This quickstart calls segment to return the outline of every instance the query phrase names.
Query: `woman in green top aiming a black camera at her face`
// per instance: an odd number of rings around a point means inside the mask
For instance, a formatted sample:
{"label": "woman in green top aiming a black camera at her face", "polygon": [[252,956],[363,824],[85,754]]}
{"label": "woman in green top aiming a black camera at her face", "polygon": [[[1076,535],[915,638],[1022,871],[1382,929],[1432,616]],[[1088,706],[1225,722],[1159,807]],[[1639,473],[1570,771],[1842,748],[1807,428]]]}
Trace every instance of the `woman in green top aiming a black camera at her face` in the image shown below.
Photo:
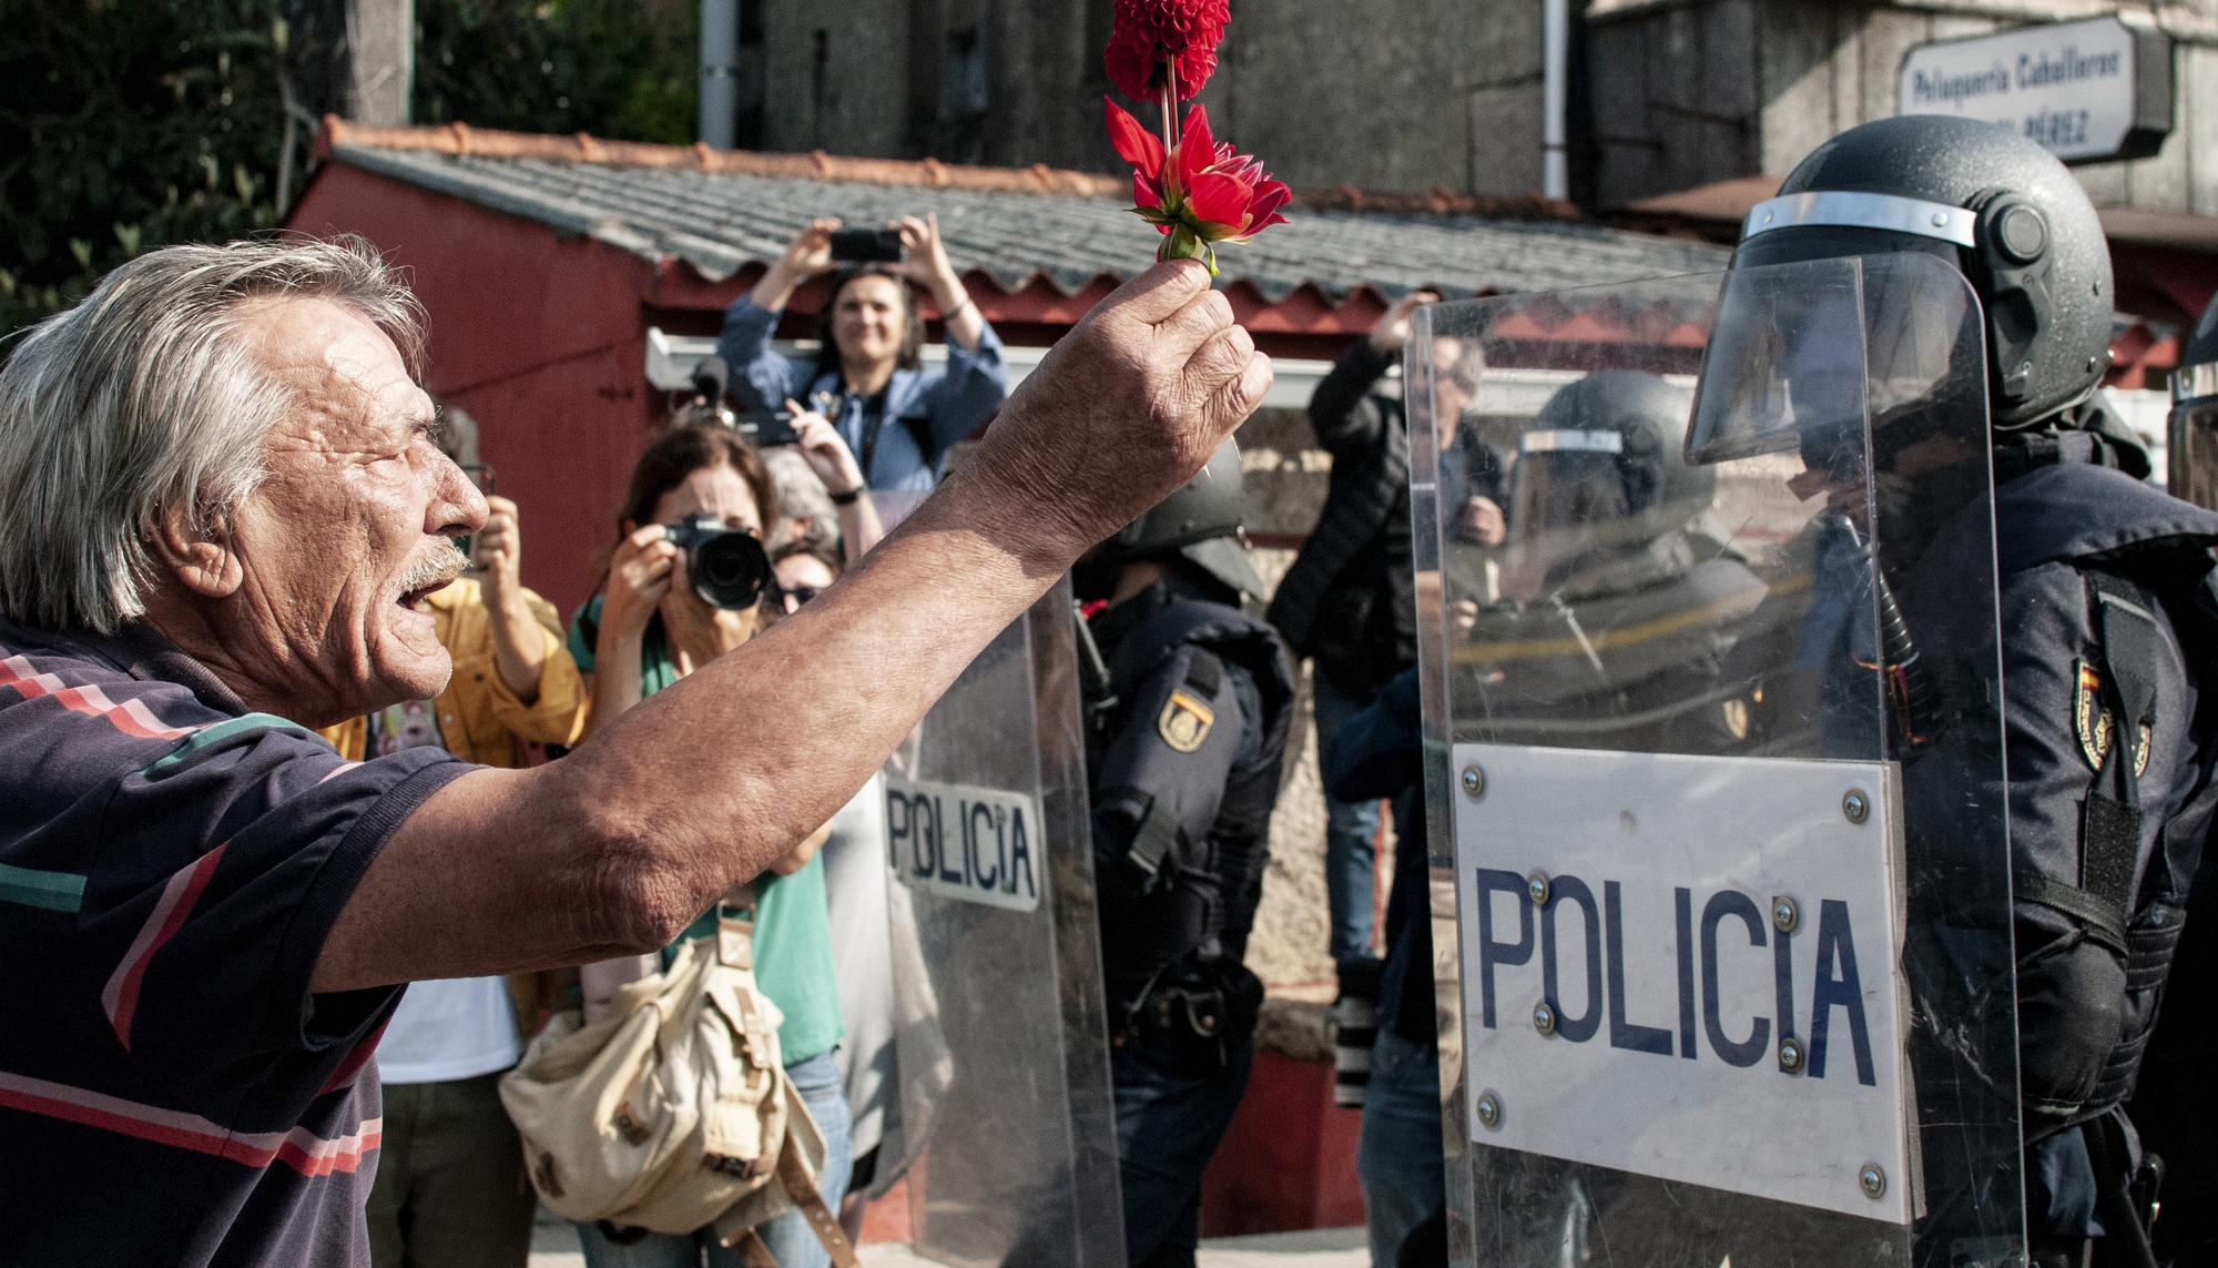
{"label": "woman in green top aiming a black camera at her face", "polygon": [[[763,599],[779,594],[763,552],[763,532],[776,519],[779,497],[763,457],[732,428],[679,426],[639,457],[608,585],[570,625],[570,652],[592,681],[588,736],[761,630]],[[785,1018],[776,1029],[779,1055],[823,1133],[818,1190],[836,1210],[847,1188],[849,1115],[832,1057],[841,1004],[825,869],[816,856],[823,840],[823,831],[812,834],[752,882],[752,955],[763,995]],[[586,964],[586,1020],[621,982],[659,971],[676,944],[714,933],[716,911],[710,909],[661,958]],[[798,1210],[763,1224],[756,1235],[783,1268],[830,1264]],[[592,1268],[692,1268],[712,1252],[714,1235],[581,1224],[579,1241]]]}

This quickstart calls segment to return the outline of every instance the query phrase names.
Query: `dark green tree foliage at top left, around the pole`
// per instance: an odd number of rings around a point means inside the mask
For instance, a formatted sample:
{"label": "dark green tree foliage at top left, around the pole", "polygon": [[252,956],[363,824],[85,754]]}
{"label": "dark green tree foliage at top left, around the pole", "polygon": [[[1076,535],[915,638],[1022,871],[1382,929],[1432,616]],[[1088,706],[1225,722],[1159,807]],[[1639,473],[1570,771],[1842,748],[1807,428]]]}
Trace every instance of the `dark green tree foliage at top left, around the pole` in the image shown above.
{"label": "dark green tree foliage at top left, around the pole", "polygon": [[[413,117],[690,142],[690,0],[415,0]],[[0,0],[0,333],[268,231],[346,100],[346,0]],[[4,348],[0,348],[4,355]]]}

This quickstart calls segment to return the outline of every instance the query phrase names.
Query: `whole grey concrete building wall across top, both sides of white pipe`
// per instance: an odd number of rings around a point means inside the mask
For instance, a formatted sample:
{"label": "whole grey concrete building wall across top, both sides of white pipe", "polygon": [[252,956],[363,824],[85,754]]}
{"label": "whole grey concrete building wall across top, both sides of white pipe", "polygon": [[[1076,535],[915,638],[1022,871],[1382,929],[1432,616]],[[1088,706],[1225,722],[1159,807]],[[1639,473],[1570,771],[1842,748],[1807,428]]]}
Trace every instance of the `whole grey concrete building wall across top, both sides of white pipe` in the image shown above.
{"label": "whole grey concrete building wall across top, both sides of white pipe", "polygon": [[[1783,175],[1894,111],[1923,40],[2083,18],[2098,0],[1588,0],[1573,193],[1610,208]],[[2180,35],[2163,153],[2080,168],[2098,202],[2218,213],[2218,0],[2127,7]],[[763,149],[1116,171],[1100,129],[1111,0],[765,0]],[[1202,104],[1298,188],[1522,195],[1542,182],[1542,0],[1242,2]],[[2196,124],[2202,124],[2200,129]]]}

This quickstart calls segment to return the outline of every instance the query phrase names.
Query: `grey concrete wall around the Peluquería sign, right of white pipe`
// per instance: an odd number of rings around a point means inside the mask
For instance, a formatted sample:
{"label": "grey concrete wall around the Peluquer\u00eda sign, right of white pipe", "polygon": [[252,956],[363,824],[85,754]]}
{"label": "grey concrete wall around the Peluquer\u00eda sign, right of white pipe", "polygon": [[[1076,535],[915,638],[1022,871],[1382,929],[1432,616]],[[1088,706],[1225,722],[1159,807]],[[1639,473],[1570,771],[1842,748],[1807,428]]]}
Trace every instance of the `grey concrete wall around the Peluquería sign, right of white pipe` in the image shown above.
{"label": "grey concrete wall around the Peluquer\u00eda sign, right of white pipe", "polygon": [[[1641,0],[1588,16],[1593,202],[1621,206],[1737,175],[1785,175],[1825,137],[1894,113],[1903,53],[2029,20],[2116,11],[2076,0],[1779,4]],[[2134,13],[2131,9],[2127,13]],[[2149,16],[2140,9],[2140,16]],[[2163,4],[2178,38],[2174,133],[2156,157],[2083,164],[2100,206],[2218,213],[2218,0]]]}

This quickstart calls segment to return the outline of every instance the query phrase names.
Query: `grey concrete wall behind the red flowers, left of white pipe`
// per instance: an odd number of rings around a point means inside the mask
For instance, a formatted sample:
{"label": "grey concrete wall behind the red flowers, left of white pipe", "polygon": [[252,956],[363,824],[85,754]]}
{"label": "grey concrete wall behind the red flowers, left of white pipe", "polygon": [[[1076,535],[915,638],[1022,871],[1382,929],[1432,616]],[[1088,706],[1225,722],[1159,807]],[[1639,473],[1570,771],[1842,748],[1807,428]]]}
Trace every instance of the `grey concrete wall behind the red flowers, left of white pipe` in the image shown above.
{"label": "grey concrete wall behind the red flowers, left of white pipe", "polygon": [[[1113,171],[1111,0],[765,0],[763,149]],[[1131,106],[1133,102],[1125,102]],[[1295,186],[1539,188],[1539,0],[1235,7],[1202,104]]]}

